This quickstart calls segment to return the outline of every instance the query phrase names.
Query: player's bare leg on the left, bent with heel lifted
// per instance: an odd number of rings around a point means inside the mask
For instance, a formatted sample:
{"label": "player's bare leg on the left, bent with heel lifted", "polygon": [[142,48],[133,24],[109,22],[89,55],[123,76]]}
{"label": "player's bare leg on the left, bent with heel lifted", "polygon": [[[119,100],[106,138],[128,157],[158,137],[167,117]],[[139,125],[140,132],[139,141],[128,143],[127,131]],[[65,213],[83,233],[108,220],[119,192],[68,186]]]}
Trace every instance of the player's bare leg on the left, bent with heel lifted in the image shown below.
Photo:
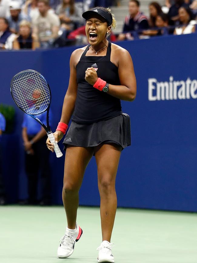
{"label": "player's bare leg on the left, bent with heel lifted", "polygon": [[69,145],[66,149],[64,166],[64,186],[62,200],[67,217],[68,228],[75,229],[77,208],[79,204],[78,192],[82,184],[83,175],[88,162],[92,158],[93,149]]}

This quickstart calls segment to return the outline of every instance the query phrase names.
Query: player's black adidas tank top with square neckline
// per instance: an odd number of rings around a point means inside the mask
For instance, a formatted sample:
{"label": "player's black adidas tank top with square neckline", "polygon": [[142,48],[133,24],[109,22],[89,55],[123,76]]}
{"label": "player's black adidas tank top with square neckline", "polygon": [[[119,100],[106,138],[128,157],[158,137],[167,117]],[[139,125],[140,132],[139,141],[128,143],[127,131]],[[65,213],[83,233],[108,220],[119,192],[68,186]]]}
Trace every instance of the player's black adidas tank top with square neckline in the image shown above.
{"label": "player's black adidas tank top with square neckline", "polygon": [[98,77],[112,85],[120,85],[118,67],[111,61],[111,43],[106,56],[85,56],[90,45],[83,52],[77,70],[77,98],[72,121],[79,124],[94,123],[116,117],[122,113],[121,102],[103,91],[94,88],[85,80],[85,70],[94,67]]}

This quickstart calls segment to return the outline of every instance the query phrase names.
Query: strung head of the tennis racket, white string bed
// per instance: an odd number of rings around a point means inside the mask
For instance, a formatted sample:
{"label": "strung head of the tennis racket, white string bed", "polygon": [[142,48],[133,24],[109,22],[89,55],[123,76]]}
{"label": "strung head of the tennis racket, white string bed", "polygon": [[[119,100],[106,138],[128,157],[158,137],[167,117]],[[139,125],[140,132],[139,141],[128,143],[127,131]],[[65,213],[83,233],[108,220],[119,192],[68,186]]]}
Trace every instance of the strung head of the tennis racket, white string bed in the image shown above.
{"label": "strung head of the tennis racket, white string bed", "polygon": [[29,114],[45,111],[50,102],[48,85],[38,73],[33,71],[15,77],[12,81],[12,94],[18,106]]}

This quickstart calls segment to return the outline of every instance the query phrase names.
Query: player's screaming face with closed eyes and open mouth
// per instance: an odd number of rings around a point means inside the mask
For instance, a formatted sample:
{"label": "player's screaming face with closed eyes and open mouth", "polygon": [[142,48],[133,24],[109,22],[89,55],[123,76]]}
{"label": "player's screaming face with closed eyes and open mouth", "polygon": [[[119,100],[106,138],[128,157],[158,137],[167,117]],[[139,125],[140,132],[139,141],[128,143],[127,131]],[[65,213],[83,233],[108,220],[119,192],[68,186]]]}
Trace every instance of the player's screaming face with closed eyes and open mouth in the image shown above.
{"label": "player's screaming face with closed eyes and open mouth", "polygon": [[108,26],[106,20],[100,15],[95,14],[94,17],[89,17],[85,25],[88,42],[93,46],[98,45],[105,39],[106,33],[110,29],[111,26]]}

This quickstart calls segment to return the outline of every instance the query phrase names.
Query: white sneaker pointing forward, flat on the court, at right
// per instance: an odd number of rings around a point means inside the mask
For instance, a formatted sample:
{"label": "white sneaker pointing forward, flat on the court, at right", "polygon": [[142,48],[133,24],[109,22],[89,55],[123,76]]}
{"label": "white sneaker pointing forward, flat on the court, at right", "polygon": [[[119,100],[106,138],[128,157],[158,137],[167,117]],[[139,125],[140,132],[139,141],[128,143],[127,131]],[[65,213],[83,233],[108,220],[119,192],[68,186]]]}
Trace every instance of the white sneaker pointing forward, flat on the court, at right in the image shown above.
{"label": "white sneaker pointing forward, flat on the court, at right", "polygon": [[114,263],[114,257],[112,255],[112,248],[114,243],[109,243],[108,241],[102,241],[100,247],[96,250],[99,250],[98,263],[101,262],[111,262]]}

